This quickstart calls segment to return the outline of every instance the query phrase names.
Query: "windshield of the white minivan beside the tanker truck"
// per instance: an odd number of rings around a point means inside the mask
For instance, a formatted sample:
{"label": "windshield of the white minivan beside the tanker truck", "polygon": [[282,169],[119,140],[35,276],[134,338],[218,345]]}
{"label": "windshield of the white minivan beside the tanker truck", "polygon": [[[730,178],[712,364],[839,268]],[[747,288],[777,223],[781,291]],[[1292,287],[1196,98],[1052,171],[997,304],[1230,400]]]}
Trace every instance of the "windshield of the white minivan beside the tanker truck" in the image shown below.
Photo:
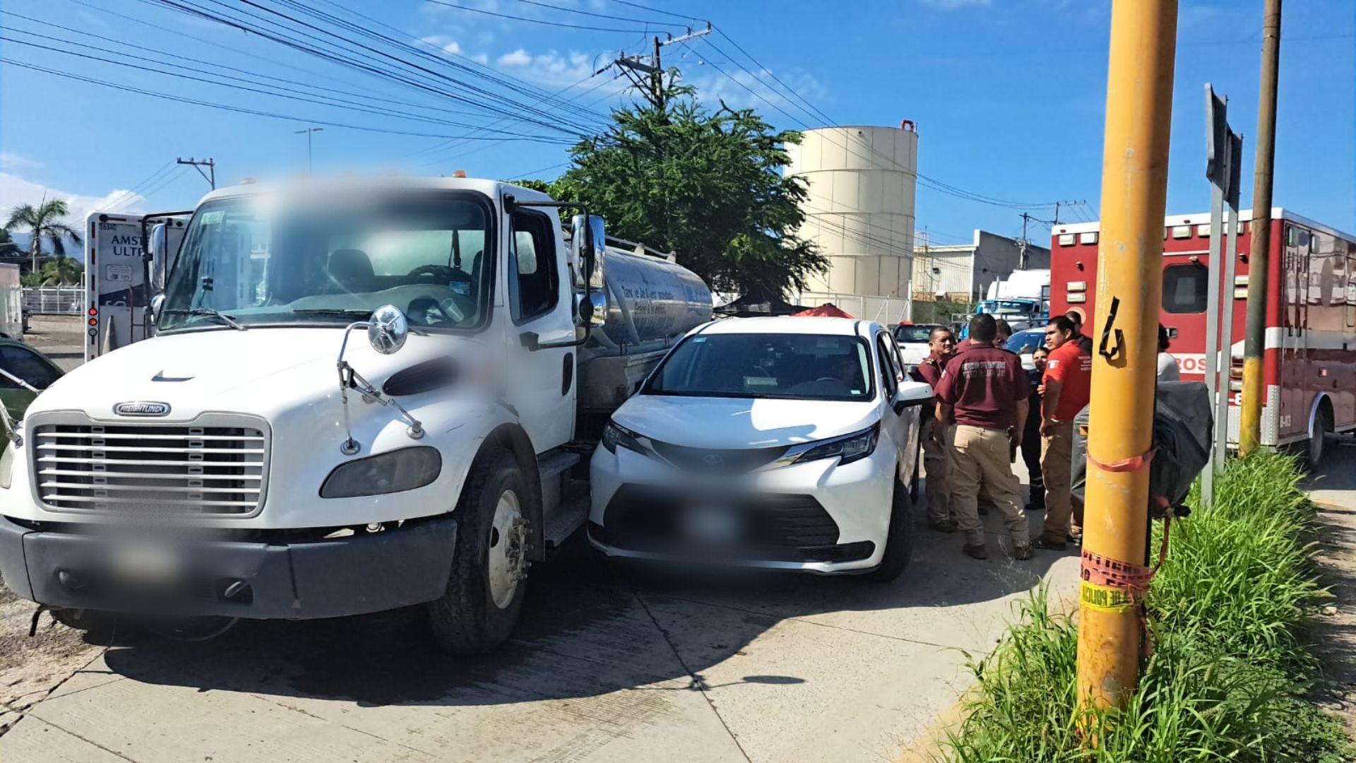
{"label": "windshield of the white minivan beside the tanker truck", "polygon": [[857,337],[697,334],[664,358],[643,395],[869,401],[871,353]]}

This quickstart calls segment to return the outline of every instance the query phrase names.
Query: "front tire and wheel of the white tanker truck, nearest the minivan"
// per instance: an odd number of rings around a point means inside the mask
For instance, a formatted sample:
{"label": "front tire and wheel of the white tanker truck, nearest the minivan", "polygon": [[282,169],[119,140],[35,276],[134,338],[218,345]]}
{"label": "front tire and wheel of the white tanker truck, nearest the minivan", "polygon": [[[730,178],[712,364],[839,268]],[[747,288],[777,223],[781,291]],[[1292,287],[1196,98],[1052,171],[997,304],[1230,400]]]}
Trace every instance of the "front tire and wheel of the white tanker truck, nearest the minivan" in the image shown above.
{"label": "front tire and wheel of the white tanker truck, nearest the minivan", "polygon": [[502,448],[476,462],[457,502],[452,578],[428,603],[434,638],[453,654],[484,654],[503,644],[527,588],[527,482]]}

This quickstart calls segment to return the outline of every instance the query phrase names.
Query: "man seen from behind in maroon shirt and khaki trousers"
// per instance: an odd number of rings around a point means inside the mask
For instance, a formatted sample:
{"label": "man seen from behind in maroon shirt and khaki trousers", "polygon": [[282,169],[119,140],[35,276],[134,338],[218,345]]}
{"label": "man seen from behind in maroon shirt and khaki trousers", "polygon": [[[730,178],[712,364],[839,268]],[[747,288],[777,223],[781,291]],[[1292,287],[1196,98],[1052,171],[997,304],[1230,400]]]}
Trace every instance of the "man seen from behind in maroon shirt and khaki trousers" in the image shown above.
{"label": "man seen from behind in maroon shirt and khaki trousers", "polygon": [[952,509],[965,534],[964,553],[989,558],[978,506],[983,486],[1012,535],[1013,557],[1029,559],[1031,536],[1017,498],[1020,485],[1012,470],[1010,448],[1021,443],[1026,426],[1031,384],[1021,360],[994,346],[997,338],[993,315],[970,319],[970,339],[946,361],[937,384],[937,418],[955,422]]}

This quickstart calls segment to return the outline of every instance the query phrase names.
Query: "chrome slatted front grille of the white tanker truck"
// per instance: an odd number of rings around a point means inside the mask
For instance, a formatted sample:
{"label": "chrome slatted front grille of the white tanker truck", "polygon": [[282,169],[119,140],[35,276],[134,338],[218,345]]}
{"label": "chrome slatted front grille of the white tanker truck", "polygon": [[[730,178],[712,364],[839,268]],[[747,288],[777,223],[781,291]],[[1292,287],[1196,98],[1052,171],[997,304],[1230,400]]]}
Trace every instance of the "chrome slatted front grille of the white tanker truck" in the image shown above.
{"label": "chrome slatted front grille of the white tanker truck", "polygon": [[57,510],[252,515],[263,500],[262,429],[39,424],[34,475]]}

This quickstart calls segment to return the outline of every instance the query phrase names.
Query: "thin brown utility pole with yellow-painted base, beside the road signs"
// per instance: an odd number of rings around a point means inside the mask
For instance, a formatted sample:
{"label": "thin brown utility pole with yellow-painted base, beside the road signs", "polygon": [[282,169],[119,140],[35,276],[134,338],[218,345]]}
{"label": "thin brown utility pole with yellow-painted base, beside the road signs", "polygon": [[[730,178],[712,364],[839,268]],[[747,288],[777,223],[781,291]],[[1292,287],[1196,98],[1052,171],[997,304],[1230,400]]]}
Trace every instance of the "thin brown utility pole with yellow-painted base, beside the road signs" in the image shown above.
{"label": "thin brown utility pole with yellow-painted base, beside the road signs", "polygon": [[[1253,248],[1248,255],[1248,323],[1238,453],[1261,444],[1262,356],[1267,352],[1267,276],[1271,267],[1271,191],[1276,162],[1276,75],[1280,69],[1280,0],[1267,0],[1262,22],[1262,81],[1257,98],[1257,168],[1253,175]],[[1319,434],[1321,436],[1321,434]]]}

